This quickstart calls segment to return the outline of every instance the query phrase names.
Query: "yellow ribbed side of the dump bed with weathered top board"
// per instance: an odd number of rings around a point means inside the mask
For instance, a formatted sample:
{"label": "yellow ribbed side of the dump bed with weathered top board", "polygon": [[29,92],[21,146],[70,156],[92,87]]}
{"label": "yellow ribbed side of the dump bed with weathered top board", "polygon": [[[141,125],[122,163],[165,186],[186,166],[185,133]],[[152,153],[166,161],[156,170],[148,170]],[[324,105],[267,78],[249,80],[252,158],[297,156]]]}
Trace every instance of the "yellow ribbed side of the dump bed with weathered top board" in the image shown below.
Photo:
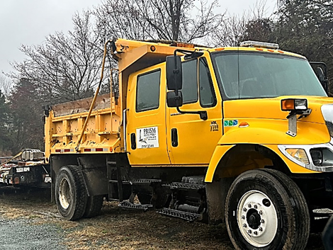
{"label": "yellow ribbed side of the dump bed with weathered top board", "polygon": [[[110,153],[120,151],[120,118],[115,114],[111,94],[98,96],[86,125],[79,152]],[[55,105],[45,123],[46,152],[77,153],[75,147],[88,115],[92,98]]]}

